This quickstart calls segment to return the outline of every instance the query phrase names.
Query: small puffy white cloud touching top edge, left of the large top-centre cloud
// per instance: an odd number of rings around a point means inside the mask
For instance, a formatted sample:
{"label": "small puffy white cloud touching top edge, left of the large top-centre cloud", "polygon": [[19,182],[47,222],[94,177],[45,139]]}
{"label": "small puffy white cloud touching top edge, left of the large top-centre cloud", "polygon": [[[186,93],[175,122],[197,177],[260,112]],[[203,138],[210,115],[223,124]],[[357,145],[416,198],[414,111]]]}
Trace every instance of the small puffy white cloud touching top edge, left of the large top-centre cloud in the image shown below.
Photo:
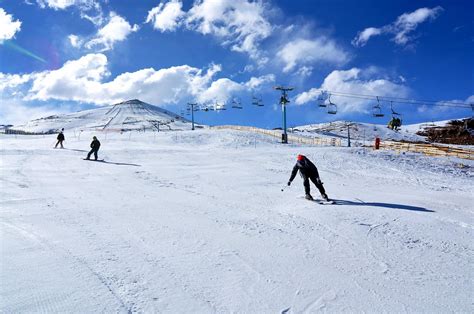
{"label": "small puffy white cloud touching top edge, left of the large top-centre cloud", "polygon": [[145,23],[153,23],[153,28],[161,32],[174,31],[185,15],[181,10],[182,7],[183,4],[179,0],[171,0],[166,4],[160,3],[148,12]]}

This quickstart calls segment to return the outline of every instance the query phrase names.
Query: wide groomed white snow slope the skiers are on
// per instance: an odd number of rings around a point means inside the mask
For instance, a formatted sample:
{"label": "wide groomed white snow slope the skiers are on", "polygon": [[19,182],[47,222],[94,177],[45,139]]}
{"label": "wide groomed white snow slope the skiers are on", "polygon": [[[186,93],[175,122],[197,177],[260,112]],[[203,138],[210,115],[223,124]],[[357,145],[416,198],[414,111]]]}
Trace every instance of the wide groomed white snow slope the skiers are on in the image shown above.
{"label": "wide groomed white snow slope the skiers are on", "polygon": [[[82,160],[92,135],[105,163]],[[1,312],[473,311],[472,161],[230,130],[65,136],[0,135]],[[298,153],[337,204],[286,187]]]}

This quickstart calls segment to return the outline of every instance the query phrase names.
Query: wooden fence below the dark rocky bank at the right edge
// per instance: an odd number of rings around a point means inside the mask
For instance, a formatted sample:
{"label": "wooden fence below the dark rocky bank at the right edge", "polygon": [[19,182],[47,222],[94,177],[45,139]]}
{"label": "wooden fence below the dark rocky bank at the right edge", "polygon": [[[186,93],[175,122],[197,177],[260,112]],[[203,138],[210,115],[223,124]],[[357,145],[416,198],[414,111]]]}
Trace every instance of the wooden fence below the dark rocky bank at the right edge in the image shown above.
{"label": "wooden fence below the dark rocky bank at the right edge", "polygon": [[395,150],[397,152],[422,153],[428,156],[452,156],[474,160],[474,150],[472,149],[456,148],[435,144],[383,141],[380,143],[380,148]]}

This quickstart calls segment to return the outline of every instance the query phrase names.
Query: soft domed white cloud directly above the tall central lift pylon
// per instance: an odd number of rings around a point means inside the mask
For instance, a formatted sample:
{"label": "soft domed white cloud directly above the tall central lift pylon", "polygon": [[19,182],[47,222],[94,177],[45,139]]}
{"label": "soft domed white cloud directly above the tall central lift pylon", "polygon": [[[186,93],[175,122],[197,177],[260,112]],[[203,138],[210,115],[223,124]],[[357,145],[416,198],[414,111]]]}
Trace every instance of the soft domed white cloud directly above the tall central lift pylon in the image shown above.
{"label": "soft domed white cloud directly above the tall central lift pylon", "polygon": [[[328,38],[295,39],[287,43],[277,53],[277,57],[285,63],[283,72],[292,71],[296,66],[314,63],[342,64],[349,57],[347,53],[339,48],[336,43]],[[310,68],[306,67],[308,73]]]}

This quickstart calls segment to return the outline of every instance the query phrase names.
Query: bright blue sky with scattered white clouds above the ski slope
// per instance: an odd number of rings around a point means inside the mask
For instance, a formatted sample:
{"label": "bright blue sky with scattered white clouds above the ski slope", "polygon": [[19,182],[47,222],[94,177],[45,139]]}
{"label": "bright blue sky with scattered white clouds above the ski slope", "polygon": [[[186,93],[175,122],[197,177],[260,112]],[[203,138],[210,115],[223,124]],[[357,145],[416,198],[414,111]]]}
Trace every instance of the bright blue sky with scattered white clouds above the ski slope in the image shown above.
{"label": "bright blue sky with scattered white clouds above the ski slope", "polygon": [[0,0],[0,124],[140,99],[275,128],[275,86],[294,88],[290,127],[457,119],[473,115],[473,56],[470,0]]}

